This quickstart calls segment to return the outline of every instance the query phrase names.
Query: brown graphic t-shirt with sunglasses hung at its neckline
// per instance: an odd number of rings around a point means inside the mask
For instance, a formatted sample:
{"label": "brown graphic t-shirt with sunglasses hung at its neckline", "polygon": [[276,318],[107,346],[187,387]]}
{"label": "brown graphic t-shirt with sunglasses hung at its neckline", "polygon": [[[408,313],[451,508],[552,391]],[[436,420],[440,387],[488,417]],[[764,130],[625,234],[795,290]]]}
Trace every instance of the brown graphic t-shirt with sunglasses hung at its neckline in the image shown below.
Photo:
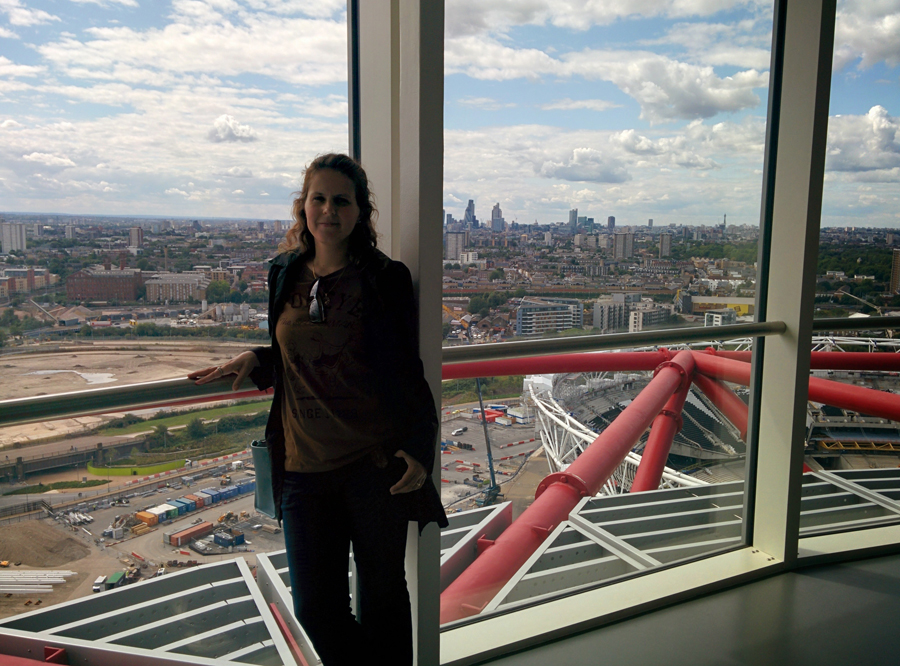
{"label": "brown graphic t-shirt with sunglasses hung at its neckline", "polygon": [[341,467],[392,436],[384,378],[364,339],[378,308],[363,303],[359,268],[350,264],[319,279],[323,322],[309,316],[314,281],[304,269],[275,329],[284,367],[285,468],[291,472]]}

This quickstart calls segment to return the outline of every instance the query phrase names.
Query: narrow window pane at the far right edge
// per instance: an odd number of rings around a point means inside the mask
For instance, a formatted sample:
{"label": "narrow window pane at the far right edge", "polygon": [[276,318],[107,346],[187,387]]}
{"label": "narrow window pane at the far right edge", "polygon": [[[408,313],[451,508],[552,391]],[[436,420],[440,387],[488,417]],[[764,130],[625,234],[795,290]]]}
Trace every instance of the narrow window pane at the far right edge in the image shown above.
{"label": "narrow window pane at the far right edge", "polygon": [[[895,331],[858,327],[900,311],[900,96],[887,27],[896,16],[886,5],[837,3],[814,306],[816,319],[835,321],[813,338],[801,538],[900,517],[891,471],[900,463]],[[863,355],[852,361],[847,352]]]}

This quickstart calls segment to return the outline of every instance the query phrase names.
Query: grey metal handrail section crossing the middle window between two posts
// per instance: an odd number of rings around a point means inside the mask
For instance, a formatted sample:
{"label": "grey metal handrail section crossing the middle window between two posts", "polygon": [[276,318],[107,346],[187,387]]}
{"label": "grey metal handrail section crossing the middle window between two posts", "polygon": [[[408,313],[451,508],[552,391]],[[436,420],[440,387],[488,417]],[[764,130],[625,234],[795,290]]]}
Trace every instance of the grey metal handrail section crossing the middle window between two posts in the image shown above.
{"label": "grey metal handrail section crossing the middle window between two posts", "polygon": [[679,344],[709,340],[733,340],[735,338],[781,335],[787,330],[783,321],[756,322],[753,324],[729,324],[715,327],[666,328],[637,333],[609,333],[606,335],[579,335],[571,338],[549,340],[517,340],[483,345],[444,347],[443,362],[465,363],[470,361],[496,361],[505,358],[527,356],[551,356],[575,352],[645,347],[660,344]]}

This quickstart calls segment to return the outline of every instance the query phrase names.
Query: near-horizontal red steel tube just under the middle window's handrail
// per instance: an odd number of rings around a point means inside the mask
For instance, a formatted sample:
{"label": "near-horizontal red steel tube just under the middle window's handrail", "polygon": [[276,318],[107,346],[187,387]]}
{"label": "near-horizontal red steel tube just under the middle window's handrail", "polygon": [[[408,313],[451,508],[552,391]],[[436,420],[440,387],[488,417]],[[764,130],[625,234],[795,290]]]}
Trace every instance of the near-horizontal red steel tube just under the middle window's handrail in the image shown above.
{"label": "near-horizontal red steel tube just under the middle window's handrail", "polygon": [[499,361],[450,363],[441,367],[442,379],[472,379],[505,375],[540,375],[557,372],[623,372],[653,370],[668,361],[671,353],[665,349],[655,352],[616,352],[561,354],[532,358],[509,358]]}

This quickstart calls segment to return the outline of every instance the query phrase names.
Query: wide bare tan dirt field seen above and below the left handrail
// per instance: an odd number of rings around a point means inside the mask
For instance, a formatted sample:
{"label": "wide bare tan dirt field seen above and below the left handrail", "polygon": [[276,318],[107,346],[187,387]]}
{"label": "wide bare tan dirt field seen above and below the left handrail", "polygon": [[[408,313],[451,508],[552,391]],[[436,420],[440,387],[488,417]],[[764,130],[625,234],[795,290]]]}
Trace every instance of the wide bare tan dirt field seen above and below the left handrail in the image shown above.
{"label": "wide bare tan dirt field seen above and below the left handrail", "polygon": [[[185,377],[252,346],[247,342],[135,340],[115,345],[51,345],[46,353],[5,354],[0,356],[0,400]],[[59,351],[49,351],[53,349]],[[89,416],[0,428],[0,450],[15,442],[82,432],[101,421],[103,417]]]}

